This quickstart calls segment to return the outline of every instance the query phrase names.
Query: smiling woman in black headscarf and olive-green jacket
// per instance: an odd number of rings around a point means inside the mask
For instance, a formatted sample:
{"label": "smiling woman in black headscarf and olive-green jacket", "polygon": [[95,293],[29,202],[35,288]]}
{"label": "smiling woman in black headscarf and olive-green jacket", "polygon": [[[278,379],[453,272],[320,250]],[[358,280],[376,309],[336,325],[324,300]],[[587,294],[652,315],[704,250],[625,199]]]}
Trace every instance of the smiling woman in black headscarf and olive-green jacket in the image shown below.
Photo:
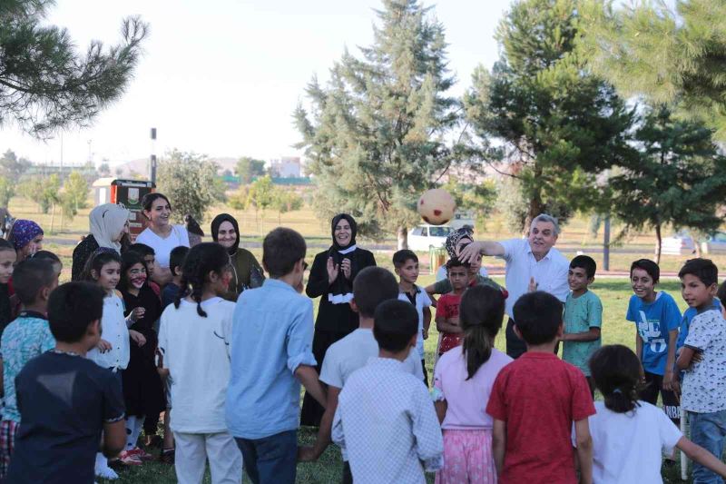
{"label": "smiling woman in black headscarf and olive-green jacket", "polygon": [[240,247],[240,226],[229,213],[220,213],[211,221],[211,238],[227,249],[232,265],[232,279],[229,291],[224,295],[228,301],[237,301],[245,289],[260,287],[265,280],[260,262],[252,252]]}

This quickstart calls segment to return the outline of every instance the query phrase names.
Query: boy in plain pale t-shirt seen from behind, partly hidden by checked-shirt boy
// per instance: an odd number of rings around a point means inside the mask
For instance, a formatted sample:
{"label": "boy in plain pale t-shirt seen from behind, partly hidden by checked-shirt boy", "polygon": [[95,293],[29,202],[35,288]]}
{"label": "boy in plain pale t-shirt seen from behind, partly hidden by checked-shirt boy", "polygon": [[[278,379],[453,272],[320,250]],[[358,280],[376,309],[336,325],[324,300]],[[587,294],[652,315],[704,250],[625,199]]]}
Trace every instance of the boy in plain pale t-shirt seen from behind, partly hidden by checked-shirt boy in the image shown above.
{"label": "boy in plain pale t-shirt seen from behind, partly hidden by checked-shirt boy", "polygon": [[[388,270],[382,267],[367,267],[356,276],[350,306],[353,311],[358,312],[359,327],[342,340],[333,343],[325,353],[320,381],[328,385],[328,405],[320,420],[318,439],[314,447],[299,449],[299,460],[318,459],[328,447],[340,390],[343,389],[351,373],[364,367],[370,358],[378,356],[378,342],[373,337],[373,313],[383,301],[395,300],[397,297],[398,283]],[[408,351],[402,368],[415,376],[423,386],[424,371],[417,351]],[[342,483],[349,484],[352,483],[352,478],[345,453],[343,459],[345,462]]]}

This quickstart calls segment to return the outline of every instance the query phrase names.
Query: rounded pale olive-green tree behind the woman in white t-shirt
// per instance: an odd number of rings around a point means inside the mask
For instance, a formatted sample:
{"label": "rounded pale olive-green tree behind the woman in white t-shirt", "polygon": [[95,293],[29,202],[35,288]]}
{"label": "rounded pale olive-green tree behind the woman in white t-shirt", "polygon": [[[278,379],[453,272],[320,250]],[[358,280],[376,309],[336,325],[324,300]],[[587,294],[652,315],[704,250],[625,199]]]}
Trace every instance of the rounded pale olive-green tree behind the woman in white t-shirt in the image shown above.
{"label": "rounded pale olive-green tree behind the woman in white t-shirt", "polygon": [[217,163],[205,155],[173,150],[157,167],[159,192],[172,202],[176,222],[190,213],[203,222],[215,202],[225,200],[223,183],[217,178]]}

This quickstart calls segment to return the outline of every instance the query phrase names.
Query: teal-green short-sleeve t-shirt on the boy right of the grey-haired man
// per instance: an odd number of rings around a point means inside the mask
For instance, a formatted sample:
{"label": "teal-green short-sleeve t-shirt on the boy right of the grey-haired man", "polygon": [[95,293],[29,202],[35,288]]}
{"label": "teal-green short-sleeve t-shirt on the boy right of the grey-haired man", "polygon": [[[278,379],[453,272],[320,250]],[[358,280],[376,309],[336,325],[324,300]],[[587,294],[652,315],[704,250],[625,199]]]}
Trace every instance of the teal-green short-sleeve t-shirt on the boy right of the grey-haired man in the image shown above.
{"label": "teal-green short-sleeve t-shirt on the boy right of the grey-haired man", "polygon": [[[564,332],[568,334],[587,332],[590,328],[603,326],[603,303],[593,291],[587,291],[578,298],[567,295],[564,301]],[[588,361],[602,345],[598,338],[594,341],[564,341],[562,359],[590,376]]]}

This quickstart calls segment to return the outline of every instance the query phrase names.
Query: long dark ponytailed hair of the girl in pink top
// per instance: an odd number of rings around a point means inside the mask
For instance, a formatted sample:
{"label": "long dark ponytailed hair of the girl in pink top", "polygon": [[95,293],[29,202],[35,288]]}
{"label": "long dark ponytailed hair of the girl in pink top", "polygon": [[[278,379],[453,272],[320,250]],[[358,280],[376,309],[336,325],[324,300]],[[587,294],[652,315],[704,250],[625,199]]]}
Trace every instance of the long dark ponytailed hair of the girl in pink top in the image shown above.
{"label": "long dark ponytailed hair of the girl in pink top", "polygon": [[474,286],[464,292],[459,306],[459,321],[464,330],[466,380],[489,361],[496,333],[502,329],[505,297],[490,286]]}

